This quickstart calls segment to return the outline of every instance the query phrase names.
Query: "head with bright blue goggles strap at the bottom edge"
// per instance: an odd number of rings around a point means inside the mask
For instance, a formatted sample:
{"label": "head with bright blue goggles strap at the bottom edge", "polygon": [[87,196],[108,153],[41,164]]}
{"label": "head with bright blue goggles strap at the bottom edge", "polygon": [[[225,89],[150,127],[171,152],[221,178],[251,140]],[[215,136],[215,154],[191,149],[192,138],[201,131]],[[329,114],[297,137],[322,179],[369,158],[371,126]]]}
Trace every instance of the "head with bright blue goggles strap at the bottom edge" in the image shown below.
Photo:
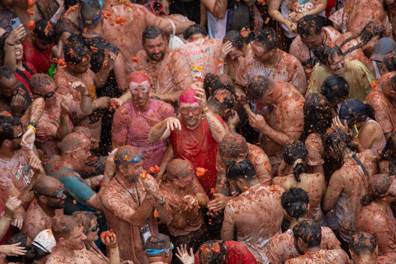
{"label": "head with bright blue goggles strap at the bottom edge", "polygon": [[168,264],[171,263],[174,248],[171,240],[167,235],[155,234],[146,242],[146,254],[150,264]]}

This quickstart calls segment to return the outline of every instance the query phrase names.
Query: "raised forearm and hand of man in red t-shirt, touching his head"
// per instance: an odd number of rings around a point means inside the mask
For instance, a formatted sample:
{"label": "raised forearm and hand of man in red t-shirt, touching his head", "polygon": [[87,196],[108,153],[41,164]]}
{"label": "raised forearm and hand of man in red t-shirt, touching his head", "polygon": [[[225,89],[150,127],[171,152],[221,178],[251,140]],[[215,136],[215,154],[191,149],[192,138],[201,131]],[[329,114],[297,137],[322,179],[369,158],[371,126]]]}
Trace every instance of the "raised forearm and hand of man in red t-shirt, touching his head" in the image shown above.
{"label": "raised forearm and hand of man in red t-shirt, touching his head", "polygon": [[196,102],[200,105],[204,112],[213,138],[216,140],[217,143],[220,143],[220,141],[225,136],[226,131],[223,124],[217,119],[212,111],[210,111],[208,102],[206,100],[205,90],[202,88],[196,88],[194,97],[196,99]]}

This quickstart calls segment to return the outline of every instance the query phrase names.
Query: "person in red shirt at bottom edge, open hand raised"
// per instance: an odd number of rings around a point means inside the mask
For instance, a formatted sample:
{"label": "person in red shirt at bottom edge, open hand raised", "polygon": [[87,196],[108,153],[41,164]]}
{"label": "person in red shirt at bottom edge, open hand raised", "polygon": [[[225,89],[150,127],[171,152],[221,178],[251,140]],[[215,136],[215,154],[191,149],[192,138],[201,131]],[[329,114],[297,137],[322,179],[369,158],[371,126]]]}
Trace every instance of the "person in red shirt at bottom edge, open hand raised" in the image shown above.
{"label": "person in red shirt at bottom edge, open hand raised", "polygon": [[190,255],[186,248],[177,248],[176,256],[183,264],[257,264],[249,249],[241,242],[211,240],[201,245],[200,249]]}

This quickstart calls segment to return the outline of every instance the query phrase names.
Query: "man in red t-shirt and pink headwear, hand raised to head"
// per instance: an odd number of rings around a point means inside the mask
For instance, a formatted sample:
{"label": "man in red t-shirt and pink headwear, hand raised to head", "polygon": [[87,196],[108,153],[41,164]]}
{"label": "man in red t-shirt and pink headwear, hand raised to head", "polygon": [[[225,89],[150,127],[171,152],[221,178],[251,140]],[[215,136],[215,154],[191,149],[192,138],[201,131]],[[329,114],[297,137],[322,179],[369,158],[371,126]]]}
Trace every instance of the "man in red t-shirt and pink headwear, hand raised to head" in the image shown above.
{"label": "man in red t-shirt and pink headwear, hand raised to head", "polygon": [[206,169],[198,181],[211,198],[217,179],[217,145],[225,135],[223,120],[210,111],[205,90],[201,88],[181,93],[179,112],[177,118],[168,117],[153,126],[148,141],[169,138],[175,158],[188,160],[195,172],[197,168]]}

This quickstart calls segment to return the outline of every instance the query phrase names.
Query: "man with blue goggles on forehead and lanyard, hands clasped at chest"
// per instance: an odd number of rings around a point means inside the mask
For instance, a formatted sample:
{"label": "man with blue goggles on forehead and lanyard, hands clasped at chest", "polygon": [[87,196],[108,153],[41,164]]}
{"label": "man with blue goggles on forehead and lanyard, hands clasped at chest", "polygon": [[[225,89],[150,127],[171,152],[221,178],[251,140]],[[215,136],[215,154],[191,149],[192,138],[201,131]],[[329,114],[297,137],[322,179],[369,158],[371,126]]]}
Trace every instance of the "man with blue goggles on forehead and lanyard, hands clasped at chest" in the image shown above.
{"label": "man with blue goggles on forehead and lanyard, hands clasped at chest", "polygon": [[155,217],[165,224],[172,221],[171,208],[157,182],[149,174],[141,177],[142,159],[143,153],[136,148],[120,147],[114,156],[116,176],[102,195],[107,224],[117,235],[120,259],[135,264],[148,263],[144,248],[147,239],[158,233]]}

